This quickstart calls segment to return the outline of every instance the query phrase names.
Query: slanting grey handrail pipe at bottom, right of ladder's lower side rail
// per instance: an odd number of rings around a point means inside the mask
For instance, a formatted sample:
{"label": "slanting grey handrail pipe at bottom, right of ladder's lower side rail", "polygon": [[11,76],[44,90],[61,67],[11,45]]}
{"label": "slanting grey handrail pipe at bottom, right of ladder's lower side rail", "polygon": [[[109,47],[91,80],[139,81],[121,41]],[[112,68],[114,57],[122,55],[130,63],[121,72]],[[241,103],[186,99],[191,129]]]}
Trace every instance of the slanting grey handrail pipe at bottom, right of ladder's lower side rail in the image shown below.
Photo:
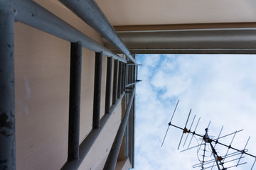
{"label": "slanting grey handrail pipe at bottom, right of ladder's lower side rail", "polygon": [[129,103],[124,112],[124,117],[122,118],[122,122],[118,128],[117,135],[114,138],[113,145],[110,149],[110,154],[107,157],[107,161],[105,162],[104,170],[114,170],[114,167],[117,164],[117,157],[118,157],[119,150],[120,150],[120,147],[122,144],[122,139],[124,137],[124,132],[125,132],[125,129],[127,126],[129,113],[131,111],[132,102],[134,100],[134,94],[135,94],[135,87],[134,87],[131,97],[129,98]]}

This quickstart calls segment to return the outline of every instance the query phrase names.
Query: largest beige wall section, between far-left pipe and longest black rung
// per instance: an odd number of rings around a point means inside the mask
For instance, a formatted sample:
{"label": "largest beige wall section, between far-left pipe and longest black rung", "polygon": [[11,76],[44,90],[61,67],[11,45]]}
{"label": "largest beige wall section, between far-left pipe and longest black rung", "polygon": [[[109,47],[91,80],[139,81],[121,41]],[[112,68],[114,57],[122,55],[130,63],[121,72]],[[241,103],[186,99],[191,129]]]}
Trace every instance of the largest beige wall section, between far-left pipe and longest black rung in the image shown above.
{"label": "largest beige wall section, between far-left pipe and longest black rung", "polygon": [[17,169],[59,169],[68,146],[69,42],[15,24]]}

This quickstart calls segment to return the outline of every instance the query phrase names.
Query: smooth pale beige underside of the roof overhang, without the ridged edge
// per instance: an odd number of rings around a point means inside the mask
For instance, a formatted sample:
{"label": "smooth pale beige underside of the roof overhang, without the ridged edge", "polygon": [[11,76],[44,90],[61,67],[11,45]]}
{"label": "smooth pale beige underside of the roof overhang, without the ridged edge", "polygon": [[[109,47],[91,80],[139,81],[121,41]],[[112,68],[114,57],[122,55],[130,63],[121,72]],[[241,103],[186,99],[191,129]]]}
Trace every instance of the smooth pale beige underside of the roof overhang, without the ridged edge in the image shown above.
{"label": "smooth pale beige underside of the roof overhang, without the ridged edge", "polygon": [[112,26],[256,22],[255,0],[96,0]]}

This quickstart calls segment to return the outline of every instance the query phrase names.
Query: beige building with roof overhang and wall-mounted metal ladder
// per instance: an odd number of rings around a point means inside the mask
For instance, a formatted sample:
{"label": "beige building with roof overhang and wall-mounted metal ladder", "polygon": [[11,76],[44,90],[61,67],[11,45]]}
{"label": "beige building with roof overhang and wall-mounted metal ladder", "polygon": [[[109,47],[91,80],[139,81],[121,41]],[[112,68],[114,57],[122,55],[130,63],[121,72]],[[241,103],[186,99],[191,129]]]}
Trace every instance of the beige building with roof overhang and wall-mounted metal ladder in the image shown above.
{"label": "beige building with roof overhang and wall-mounted metal ladder", "polygon": [[255,53],[255,1],[98,0],[124,44],[94,1],[60,1],[0,0],[0,169],[132,168],[131,54]]}

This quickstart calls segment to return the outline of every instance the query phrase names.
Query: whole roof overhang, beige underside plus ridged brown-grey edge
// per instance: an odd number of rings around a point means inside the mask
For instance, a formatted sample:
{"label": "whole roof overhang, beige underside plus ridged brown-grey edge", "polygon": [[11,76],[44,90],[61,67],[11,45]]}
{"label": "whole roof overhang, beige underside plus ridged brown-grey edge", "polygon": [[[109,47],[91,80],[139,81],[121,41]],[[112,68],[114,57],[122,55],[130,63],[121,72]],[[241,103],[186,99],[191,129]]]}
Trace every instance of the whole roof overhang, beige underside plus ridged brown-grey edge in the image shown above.
{"label": "whole roof overhang, beige underside plus ridged brown-grey edge", "polygon": [[255,0],[95,1],[134,54],[256,53]]}

